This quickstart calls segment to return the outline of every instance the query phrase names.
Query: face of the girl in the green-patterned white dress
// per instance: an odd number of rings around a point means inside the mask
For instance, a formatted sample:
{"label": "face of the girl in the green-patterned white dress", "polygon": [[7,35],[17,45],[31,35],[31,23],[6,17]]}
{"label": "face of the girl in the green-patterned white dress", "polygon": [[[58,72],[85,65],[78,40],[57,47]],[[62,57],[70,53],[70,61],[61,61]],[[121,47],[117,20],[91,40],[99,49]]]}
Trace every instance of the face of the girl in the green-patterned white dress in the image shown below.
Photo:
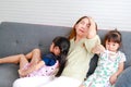
{"label": "face of the girl in the green-patterned white dress", "polygon": [[108,40],[106,40],[106,49],[107,50],[112,51],[112,52],[117,52],[119,47],[120,47],[119,44],[114,42],[114,41],[109,42]]}

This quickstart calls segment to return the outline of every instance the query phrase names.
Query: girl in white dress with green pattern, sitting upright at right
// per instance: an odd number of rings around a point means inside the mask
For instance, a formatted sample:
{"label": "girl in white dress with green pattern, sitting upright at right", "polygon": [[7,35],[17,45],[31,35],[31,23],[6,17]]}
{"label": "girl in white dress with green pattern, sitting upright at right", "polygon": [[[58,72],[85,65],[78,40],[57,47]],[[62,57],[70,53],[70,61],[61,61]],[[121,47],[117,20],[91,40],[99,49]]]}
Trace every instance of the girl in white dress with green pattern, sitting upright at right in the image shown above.
{"label": "girl in white dress with green pattern, sitting upright at right", "polygon": [[[106,49],[102,46],[97,47],[100,48],[100,55],[94,74],[80,87],[111,87],[123,71],[126,55],[118,51],[121,46],[121,34],[118,30],[110,30],[105,36],[104,42]],[[94,52],[98,53],[98,49],[94,50]]]}

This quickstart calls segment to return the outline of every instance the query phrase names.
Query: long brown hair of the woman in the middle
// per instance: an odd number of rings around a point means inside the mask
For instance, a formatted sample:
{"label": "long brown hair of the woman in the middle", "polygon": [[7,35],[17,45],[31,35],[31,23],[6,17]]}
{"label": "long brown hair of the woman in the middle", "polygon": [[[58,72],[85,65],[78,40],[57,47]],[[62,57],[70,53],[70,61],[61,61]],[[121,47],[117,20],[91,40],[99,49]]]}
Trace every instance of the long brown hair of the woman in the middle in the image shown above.
{"label": "long brown hair of the woman in the middle", "polygon": [[[74,26],[72,27],[72,30],[71,30],[70,36],[69,36],[69,39],[72,39],[72,38],[74,38],[74,37],[76,36],[75,25],[79,24],[83,18],[88,18],[88,16],[82,16],[82,17],[80,17],[80,18],[76,21],[76,23],[75,23]],[[90,18],[88,18],[88,21],[90,21]],[[90,24],[91,24],[91,23],[90,23]],[[97,24],[95,23],[95,25],[96,25],[96,30],[97,30]]]}

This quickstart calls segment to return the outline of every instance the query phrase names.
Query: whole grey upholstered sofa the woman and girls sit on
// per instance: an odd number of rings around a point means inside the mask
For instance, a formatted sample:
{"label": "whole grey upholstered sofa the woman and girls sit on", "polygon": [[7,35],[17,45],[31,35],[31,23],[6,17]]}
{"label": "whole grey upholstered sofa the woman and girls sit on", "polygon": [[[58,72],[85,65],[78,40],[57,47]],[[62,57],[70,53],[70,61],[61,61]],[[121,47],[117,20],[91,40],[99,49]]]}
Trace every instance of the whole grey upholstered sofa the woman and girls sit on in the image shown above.
{"label": "whole grey upholstered sofa the woman and girls sit on", "polygon": [[[0,58],[27,53],[34,48],[41,49],[43,53],[48,52],[49,45],[56,36],[68,36],[71,27],[51,26],[15,22],[2,22],[0,24]],[[107,30],[99,29],[102,40]],[[131,87],[131,32],[121,32],[123,46],[121,50],[127,55],[123,73],[119,76],[116,87]],[[97,59],[92,60],[90,73],[93,73]],[[12,87],[12,83],[19,78],[19,65],[0,64],[0,87]]]}

